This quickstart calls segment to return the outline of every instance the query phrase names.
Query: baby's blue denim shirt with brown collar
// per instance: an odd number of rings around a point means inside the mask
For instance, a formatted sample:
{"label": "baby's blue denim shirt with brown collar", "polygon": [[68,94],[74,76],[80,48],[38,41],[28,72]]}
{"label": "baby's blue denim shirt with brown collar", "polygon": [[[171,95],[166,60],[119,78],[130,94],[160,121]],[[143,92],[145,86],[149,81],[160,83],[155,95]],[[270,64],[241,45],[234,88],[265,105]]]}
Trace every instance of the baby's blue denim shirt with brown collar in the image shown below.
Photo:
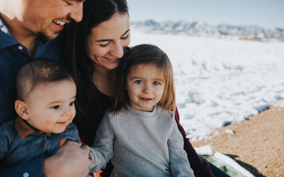
{"label": "baby's blue denim shirt with brown collar", "polygon": [[0,162],[4,168],[42,156],[50,157],[66,139],[80,141],[74,123],[70,123],[62,133],[44,133],[35,131],[18,117],[2,123],[0,132]]}

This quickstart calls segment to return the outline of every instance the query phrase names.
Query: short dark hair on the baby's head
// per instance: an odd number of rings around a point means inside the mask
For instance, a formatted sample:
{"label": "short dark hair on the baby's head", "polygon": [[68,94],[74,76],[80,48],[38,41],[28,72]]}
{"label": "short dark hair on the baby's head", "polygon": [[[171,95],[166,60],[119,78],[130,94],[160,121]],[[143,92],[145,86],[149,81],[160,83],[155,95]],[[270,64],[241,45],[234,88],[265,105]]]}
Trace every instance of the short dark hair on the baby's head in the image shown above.
{"label": "short dark hair on the baby's head", "polygon": [[48,59],[36,59],[23,65],[16,78],[17,99],[24,101],[38,85],[60,80],[74,80],[68,70]]}

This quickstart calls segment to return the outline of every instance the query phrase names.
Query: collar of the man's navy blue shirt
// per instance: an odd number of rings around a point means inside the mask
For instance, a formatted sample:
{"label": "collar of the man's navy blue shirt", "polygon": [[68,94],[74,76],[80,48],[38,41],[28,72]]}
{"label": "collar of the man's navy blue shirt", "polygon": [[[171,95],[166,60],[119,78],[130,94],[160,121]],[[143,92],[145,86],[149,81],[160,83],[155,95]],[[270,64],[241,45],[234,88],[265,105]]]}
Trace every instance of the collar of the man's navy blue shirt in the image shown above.
{"label": "collar of the man's navy blue shirt", "polygon": [[[14,36],[10,33],[7,25],[4,23],[4,21],[2,20],[2,18],[0,17],[0,49],[8,47],[8,46],[12,46],[14,44],[20,44],[20,42],[18,42]],[[41,40],[41,42],[43,43],[43,45],[46,45],[50,42],[50,40],[44,40],[44,39],[37,39],[37,40]]]}

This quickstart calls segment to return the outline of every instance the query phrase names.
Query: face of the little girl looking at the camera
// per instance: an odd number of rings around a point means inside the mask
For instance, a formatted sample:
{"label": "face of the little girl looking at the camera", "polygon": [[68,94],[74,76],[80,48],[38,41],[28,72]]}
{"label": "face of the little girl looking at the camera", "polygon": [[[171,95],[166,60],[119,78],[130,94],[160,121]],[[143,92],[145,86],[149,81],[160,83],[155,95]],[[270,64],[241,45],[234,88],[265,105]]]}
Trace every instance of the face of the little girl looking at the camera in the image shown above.
{"label": "face of the little girl looking at the camera", "polygon": [[151,112],[164,93],[164,78],[151,64],[137,65],[126,77],[126,89],[130,106]]}

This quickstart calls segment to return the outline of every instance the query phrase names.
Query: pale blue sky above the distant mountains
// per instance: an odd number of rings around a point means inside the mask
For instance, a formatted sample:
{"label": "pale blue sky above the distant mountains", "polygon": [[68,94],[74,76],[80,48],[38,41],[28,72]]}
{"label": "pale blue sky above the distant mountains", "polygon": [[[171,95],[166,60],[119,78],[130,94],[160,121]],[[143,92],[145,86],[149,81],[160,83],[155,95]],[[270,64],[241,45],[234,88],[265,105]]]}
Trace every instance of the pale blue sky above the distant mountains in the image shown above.
{"label": "pale blue sky above the distant mountains", "polygon": [[127,0],[130,21],[204,21],[284,28],[284,0]]}

